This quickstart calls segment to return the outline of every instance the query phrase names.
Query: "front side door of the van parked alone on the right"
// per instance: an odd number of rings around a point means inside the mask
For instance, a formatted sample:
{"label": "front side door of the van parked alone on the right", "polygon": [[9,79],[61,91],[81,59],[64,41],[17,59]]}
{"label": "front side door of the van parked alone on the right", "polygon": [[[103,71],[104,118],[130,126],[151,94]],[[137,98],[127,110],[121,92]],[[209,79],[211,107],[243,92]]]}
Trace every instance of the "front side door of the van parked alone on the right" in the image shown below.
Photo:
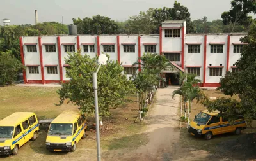
{"label": "front side door of the van parked alone on the right", "polygon": [[213,135],[221,134],[220,116],[212,116],[211,120],[205,125],[204,130],[211,131]]}

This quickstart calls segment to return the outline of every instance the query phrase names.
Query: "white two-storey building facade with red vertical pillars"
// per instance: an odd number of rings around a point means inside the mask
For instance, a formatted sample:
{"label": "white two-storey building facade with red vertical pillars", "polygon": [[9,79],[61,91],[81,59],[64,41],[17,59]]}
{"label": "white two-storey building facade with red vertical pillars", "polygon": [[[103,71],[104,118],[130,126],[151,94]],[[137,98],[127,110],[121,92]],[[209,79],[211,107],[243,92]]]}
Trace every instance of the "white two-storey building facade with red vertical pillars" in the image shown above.
{"label": "white two-storey building facade with red vertical pillars", "polygon": [[[185,21],[166,21],[160,34],[150,35],[77,35],[20,37],[24,83],[62,83],[68,81],[65,64],[67,52],[95,57],[108,53],[124,67],[129,78],[136,73],[132,64],[144,53],[159,53],[177,68],[163,71],[169,84],[177,85],[175,73],[197,74],[204,87],[218,87],[227,71],[236,72],[234,63],[243,52],[240,38],[245,34],[185,34]],[[140,69],[139,69],[140,71]]]}

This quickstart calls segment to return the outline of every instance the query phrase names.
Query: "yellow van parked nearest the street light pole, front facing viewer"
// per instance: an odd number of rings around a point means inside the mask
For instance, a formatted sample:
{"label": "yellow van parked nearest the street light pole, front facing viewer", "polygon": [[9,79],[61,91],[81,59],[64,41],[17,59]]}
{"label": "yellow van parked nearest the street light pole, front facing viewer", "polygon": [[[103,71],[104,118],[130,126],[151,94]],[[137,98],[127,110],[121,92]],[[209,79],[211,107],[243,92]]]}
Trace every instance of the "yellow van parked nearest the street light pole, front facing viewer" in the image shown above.
{"label": "yellow van parked nearest the street light pole, front facing viewer", "polygon": [[79,111],[63,111],[52,122],[46,137],[49,151],[75,151],[76,144],[86,137],[86,117]]}

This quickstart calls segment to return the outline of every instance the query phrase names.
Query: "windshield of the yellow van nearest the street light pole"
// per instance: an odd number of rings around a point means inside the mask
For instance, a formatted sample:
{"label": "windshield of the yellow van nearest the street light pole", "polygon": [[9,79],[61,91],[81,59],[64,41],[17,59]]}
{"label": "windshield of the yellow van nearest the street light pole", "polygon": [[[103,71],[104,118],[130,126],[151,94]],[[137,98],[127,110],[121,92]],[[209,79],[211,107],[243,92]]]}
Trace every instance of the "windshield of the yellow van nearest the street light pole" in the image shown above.
{"label": "windshield of the yellow van nearest the street light pole", "polygon": [[65,135],[71,136],[72,135],[72,123],[52,123],[49,129],[49,135]]}

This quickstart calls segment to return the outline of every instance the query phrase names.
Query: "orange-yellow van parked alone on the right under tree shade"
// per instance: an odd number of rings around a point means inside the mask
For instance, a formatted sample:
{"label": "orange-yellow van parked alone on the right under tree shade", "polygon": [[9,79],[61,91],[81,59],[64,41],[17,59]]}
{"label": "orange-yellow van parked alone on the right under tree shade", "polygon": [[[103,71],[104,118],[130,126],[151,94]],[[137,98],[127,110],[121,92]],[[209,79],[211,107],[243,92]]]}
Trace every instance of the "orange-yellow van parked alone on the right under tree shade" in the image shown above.
{"label": "orange-yellow van parked alone on the right under tree shade", "polygon": [[212,136],[227,132],[241,134],[241,130],[246,129],[246,122],[242,116],[235,117],[234,123],[229,123],[228,115],[225,113],[200,111],[195,119],[189,123],[188,132],[193,136],[204,135],[207,140],[211,139]]}

